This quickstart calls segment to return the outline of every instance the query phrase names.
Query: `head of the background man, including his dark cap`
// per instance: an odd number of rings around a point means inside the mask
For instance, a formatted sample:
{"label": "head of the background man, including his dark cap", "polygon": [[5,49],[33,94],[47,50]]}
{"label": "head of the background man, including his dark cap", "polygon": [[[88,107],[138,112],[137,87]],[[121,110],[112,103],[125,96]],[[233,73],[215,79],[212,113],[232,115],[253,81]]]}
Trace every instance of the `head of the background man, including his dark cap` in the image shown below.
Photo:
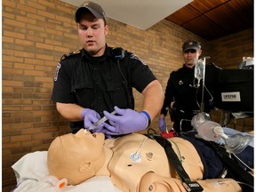
{"label": "head of the background man, including his dark cap", "polygon": [[185,66],[193,68],[202,53],[201,44],[196,40],[190,39],[182,45],[182,52]]}

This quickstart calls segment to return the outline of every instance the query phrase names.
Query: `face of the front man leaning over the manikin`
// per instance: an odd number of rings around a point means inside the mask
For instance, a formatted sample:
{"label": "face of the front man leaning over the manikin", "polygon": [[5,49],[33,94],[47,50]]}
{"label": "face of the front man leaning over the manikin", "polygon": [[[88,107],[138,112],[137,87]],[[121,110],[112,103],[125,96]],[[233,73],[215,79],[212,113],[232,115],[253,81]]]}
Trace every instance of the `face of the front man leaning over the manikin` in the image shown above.
{"label": "face of the front man leaning over the manikin", "polygon": [[84,50],[92,57],[104,54],[108,25],[104,24],[103,19],[97,19],[91,12],[85,12],[77,23],[77,32]]}

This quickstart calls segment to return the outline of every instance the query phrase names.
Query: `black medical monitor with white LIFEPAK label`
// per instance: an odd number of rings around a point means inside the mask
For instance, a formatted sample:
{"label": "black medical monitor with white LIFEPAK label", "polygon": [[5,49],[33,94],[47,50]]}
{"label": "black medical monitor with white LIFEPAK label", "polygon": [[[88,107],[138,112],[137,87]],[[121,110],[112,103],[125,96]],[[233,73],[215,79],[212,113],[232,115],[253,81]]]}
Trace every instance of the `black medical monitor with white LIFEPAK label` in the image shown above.
{"label": "black medical monitor with white LIFEPAK label", "polygon": [[253,113],[253,69],[221,69],[213,98],[215,108]]}

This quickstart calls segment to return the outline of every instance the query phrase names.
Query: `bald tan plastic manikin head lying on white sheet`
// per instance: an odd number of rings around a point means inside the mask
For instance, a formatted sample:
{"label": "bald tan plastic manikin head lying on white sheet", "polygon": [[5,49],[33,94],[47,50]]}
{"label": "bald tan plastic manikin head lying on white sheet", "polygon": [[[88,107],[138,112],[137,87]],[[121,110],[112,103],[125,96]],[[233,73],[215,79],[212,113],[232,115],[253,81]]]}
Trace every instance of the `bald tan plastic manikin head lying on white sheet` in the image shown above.
{"label": "bald tan plastic manikin head lying on white sheet", "polygon": [[77,185],[93,177],[105,162],[103,133],[66,134],[52,141],[48,149],[47,166],[51,175],[68,184]]}

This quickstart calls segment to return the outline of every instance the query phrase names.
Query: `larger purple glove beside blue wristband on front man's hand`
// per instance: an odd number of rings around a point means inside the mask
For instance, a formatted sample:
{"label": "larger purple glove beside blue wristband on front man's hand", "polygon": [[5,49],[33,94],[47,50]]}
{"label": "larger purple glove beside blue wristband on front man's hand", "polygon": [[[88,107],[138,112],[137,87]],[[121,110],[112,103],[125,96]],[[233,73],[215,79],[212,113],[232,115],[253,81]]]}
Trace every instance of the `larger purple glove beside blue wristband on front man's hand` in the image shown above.
{"label": "larger purple glove beside blue wristband on front man's hand", "polygon": [[109,122],[109,124],[104,125],[109,131],[106,132],[108,135],[137,132],[145,130],[148,127],[148,117],[150,118],[150,116],[147,116],[144,112],[139,113],[130,108],[122,109],[117,107],[115,107],[115,110],[117,116],[103,111]]}

